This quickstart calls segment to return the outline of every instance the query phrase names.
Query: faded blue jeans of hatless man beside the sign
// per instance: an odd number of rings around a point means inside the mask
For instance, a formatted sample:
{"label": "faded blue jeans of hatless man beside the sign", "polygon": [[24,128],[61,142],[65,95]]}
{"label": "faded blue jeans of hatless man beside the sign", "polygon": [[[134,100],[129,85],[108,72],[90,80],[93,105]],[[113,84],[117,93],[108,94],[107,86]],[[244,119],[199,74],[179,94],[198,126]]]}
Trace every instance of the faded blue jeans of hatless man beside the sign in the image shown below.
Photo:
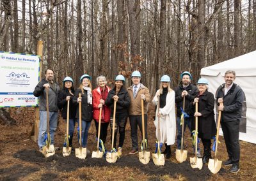
{"label": "faded blue jeans of hatless man beside the sign", "polygon": [[[51,145],[54,144],[54,134],[57,129],[58,112],[49,112],[49,132],[51,135]],[[47,134],[47,113],[46,111],[40,111],[40,123],[38,131],[38,146],[42,148],[45,146],[45,134]]]}

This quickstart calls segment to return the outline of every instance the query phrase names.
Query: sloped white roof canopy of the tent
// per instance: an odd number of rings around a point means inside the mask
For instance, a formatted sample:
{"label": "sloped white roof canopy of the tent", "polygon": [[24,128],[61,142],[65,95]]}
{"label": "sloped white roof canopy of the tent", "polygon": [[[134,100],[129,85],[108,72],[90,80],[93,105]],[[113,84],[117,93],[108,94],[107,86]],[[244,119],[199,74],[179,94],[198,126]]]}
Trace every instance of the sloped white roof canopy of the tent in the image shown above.
{"label": "sloped white roof canopy of the tent", "polygon": [[256,76],[256,51],[202,68],[201,75],[224,76],[228,69],[235,70],[236,76]]}

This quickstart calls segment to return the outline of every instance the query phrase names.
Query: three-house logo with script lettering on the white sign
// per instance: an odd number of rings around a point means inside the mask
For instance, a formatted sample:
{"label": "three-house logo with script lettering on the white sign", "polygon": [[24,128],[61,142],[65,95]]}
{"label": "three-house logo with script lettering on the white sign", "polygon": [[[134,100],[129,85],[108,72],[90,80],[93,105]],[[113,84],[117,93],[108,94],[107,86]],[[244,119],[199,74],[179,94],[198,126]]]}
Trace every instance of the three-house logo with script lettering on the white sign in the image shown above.
{"label": "three-house logo with script lettering on the white sign", "polygon": [[29,85],[29,76],[26,73],[9,73],[6,76],[8,78],[8,83],[6,84],[15,84],[15,85]]}

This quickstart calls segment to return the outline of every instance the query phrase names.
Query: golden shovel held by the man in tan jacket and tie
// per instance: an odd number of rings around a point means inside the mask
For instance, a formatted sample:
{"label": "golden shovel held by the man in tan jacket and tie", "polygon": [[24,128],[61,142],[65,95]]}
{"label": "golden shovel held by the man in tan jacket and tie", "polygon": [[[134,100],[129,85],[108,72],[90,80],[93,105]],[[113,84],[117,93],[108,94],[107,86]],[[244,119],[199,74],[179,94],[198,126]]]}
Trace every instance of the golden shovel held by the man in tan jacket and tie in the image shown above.
{"label": "golden shovel held by the man in tan jacket and tie", "polygon": [[143,147],[141,147],[141,152],[139,152],[139,159],[140,162],[143,164],[148,164],[148,162],[150,161],[150,152],[147,152],[147,144],[145,147],[145,141],[147,142],[147,140],[145,139],[145,126],[144,126],[144,102],[143,99],[141,99],[141,118],[142,118],[142,144]]}

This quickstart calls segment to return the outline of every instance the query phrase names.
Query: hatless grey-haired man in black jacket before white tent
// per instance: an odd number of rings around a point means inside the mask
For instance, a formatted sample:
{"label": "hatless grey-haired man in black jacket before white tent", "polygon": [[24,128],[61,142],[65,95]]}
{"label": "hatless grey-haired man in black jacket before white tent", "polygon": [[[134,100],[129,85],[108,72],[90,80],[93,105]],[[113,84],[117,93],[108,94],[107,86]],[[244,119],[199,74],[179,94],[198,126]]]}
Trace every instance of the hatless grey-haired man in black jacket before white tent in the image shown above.
{"label": "hatless grey-haired man in black jacket before white tent", "polygon": [[[240,147],[239,147],[239,122],[242,117],[244,93],[241,87],[234,83],[235,71],[228,70],[225,73],[225,83],[216,91],[218,110],[221,114],[221,129],[229,159],[223,164],[232,165],[230,172],[239,171]],[[223,104],[220,104],[223,103]]]}

